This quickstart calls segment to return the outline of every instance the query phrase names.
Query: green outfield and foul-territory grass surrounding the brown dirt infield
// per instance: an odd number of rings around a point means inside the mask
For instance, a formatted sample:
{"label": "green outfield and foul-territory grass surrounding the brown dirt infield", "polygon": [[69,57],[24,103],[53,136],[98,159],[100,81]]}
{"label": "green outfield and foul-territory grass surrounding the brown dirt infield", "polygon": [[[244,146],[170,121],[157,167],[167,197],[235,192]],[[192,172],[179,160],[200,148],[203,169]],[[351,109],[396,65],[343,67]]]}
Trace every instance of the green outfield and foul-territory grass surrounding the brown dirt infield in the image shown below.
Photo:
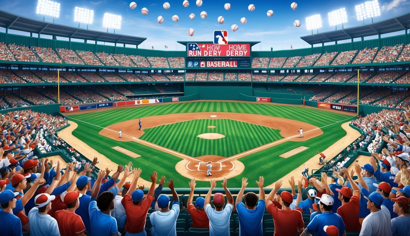
{"label": "green outfield and foul-territory grass surrounding the brown dirt infield", "polygon": [[[171,154],[161,152],[151,147],[130,142],[115,141],[111,138],[98,134],[101,127],[106,127],[114,123],[125,120],[136,119],[146,116],[164,115],[170,113],[189,113],[189,112],[237,112],[253,113],[266,116],[276,116],[293,120],[301,120],[322,128],[323,134],[304,142],[288,141],[270,147],[266,150],[248,155],[239,159],[245,165],[244,172],[229,180],[230,187],[240,187],[241,177],[248,179],[257,179],[264,175],[266,184],[270,184],[280,179],[295,167],[310,159],[316,154],[316,151],[324,150],[337,140],[346,135],[346,132],[340,126],[341,123],[333,124],[351,118],[351,116],[332,113],[326,110],[311,109],[308,107],[278,106],[273,104],[257,104],[243,102],[189,102],[189,103],[170,103],[163,105],[152,105],[146,107],[130,107],[124,109],[113,109],[109,111],[96,111],[79,115],[71,115],[68,118],[76,119],[78,128],[73,131],[73,135],[88,143],[88,145],[116,163],[128,163],[132,161],[135,167],[143,169],[141,177],[149,179],[150,172],[156,170],[158,175],[166,175],[175,180],[175,186],[188,187],[189,179],[183,177],[175,170],[175,165],[181,159]],[[80,122],[82,120],[93,125]],[[333,125],[330,125],[333,124]],[[97,126],[100,127],[97,127]],[[297,129],[299,127],[296,127]],[[104,145],[101,145],[104,143]],[[134,159],[111,147],[120,146],[135,152],[141,157]],[[296,154],[288,159],[279,157],[280,154],[292,150],[299,146],[309,147],[309,149]],[[91,157],[92,158],[92,157]],[[208,187],[207,182],[197,182],[197,187]],[[254,181],[250,181],[249,187],[256,187]]]}

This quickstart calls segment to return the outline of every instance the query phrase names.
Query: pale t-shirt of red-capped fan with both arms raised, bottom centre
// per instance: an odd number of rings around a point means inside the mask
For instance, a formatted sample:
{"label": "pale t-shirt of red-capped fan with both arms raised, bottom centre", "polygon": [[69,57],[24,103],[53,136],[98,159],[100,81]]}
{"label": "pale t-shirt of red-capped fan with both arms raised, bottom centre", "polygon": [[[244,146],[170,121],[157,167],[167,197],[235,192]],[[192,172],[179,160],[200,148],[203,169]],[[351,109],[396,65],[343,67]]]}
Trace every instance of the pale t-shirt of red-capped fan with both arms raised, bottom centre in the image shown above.
{"label": "pale t-shirt of red-capped fan with both arms raised, bottom centre", "polygon": [[211,204],[205,205],[205,212],[209,218],[210,236],[230,236],[229,218],[233,205],[228,203],[222,211],[215,211]]}

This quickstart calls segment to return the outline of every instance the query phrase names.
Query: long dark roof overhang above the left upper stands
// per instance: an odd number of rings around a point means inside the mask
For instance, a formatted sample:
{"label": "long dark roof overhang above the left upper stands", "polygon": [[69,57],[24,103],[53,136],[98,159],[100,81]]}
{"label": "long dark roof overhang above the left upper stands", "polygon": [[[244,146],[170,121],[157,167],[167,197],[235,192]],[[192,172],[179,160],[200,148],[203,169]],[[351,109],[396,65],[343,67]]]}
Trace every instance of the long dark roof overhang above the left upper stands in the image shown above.
{"label": "long dark roof overhang above the left upper stands", "polygon": [[112,34],[95,30],[86,30],[41,20],[34,20],[24,16],[11,14],[7,11],[2,10],[0,10],[0,27],[35,34],[48,34],[59,37],[93,40],[107,43],[125,43],[139,45],[146,40],[146,38],[142,37]]}

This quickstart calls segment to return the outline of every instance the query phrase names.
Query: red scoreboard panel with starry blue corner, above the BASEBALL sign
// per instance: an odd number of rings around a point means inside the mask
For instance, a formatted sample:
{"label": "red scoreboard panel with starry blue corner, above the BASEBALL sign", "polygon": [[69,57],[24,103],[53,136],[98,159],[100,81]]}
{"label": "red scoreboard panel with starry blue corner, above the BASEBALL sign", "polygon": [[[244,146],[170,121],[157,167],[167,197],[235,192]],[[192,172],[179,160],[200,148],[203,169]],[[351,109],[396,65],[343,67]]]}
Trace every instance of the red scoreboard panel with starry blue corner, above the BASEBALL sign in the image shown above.
{"label": "red scoreboard panel with starry blue corner, above the BASEBALL sign", "polygon": [[250,57],[249,43],[188,43],[188,57]]}

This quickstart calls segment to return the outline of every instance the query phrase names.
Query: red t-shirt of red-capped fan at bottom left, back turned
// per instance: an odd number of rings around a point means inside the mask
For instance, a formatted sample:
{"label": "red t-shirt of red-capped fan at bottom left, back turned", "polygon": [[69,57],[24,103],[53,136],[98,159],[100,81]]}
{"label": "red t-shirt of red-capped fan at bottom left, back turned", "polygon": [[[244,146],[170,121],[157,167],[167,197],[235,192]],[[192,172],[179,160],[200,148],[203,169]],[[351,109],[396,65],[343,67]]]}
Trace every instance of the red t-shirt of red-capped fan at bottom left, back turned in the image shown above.
{"label": "red t-shirt of red-capped fan at bottom left, back turned", "polygon": [[85,231],[84,223],[75,212],[60,210],[54,213],[61,236],[77,236]]}

